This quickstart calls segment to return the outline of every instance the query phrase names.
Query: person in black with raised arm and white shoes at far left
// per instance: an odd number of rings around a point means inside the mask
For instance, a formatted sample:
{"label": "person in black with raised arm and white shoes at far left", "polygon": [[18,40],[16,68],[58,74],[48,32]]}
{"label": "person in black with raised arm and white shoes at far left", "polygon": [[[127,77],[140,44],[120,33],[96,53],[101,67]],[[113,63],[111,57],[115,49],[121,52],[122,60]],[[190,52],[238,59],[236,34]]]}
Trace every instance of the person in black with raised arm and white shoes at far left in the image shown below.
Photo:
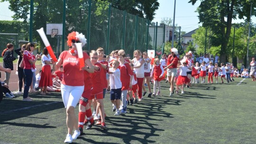
{"label": "person in black with raised arm and white shoes at far left", "polygon": [[21,48],[18,48],[14,50],[16,54],[18,54],[18,62],[17,62],[17,69],[16,72],[18,72],[18,91],[14,94],[16,95],[22,95],[22,87],[23,87],[23,81],[25,81],[25,74],[24,74],[24,67],[20,67],[20,63],[23,61],[23,52],[26,49],[26,45],[22,45]]}

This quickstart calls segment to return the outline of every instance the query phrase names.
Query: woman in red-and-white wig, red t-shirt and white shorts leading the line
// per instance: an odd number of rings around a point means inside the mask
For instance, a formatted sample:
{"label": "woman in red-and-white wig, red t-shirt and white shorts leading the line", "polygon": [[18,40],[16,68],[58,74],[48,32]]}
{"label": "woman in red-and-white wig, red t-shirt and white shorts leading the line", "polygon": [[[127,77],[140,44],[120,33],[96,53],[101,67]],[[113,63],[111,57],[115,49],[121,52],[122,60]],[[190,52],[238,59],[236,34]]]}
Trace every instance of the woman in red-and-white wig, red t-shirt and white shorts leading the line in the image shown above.
{"label": "woman in red-and-white wig, red t-shirt and white shorts leading the line", "polygon": [[[78,129],[78,120],[75,116],[74,108],[79,102],[82,92],[84,90],[84,77],[83,70],[88,72],[94,72],[92,68],[90,58],[88,54],[83,53],[84,63],[87,65],[80,70],[79,57],[75,43],[82,43],[82,46],[86,44],[84,35],[78,32],[72,32],[67,36],[67,45],[70,46],[68,51],[63,51],[58,59],[57,63],[53,63],[53,69],[57,70],[63,65],[64,76],[61,84],[61,95],[66,108],[66,125],[68,128],[68,134],[64,143],[72,143],[80,135]],[[75,129],[74,134],[71,133]]]}

